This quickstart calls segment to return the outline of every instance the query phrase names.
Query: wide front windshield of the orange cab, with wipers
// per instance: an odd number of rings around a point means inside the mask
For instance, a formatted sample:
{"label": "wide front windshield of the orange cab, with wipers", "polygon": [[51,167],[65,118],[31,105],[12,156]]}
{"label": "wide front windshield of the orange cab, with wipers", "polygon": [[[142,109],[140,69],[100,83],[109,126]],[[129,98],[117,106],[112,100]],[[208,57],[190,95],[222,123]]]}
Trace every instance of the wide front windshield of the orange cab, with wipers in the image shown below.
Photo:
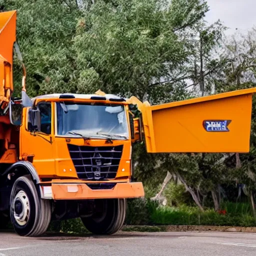
{"label": "wide front windshield of the orange cab, with wipers", "polygon": [[73,102],[57,102],[56,105],[58,135],[115,139],[128,137],[128,124],[123,105]]}

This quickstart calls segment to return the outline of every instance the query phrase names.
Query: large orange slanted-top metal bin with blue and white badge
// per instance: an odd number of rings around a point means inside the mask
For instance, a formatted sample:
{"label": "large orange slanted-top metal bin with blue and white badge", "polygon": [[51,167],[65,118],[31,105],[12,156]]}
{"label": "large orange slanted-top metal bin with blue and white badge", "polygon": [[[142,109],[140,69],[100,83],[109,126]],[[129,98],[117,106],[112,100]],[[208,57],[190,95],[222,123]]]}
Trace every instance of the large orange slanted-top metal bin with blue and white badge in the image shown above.
{"label": "large orange slanted-top metal bin with blue and white badge", "polygon": [[252,94],[236,90],[140,108],[148,152],[248,152]]}

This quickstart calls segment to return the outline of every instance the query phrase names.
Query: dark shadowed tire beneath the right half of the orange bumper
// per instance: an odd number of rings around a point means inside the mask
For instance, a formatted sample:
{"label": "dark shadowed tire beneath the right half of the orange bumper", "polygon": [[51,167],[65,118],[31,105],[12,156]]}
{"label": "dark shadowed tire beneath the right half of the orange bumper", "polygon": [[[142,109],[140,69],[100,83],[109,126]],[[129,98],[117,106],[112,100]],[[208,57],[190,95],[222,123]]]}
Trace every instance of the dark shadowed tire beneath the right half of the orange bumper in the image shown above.
{"label": "dark shadowed tire beneath the right half of the orange bumper", "polygon": [[126,199],[97,199],[96,212],[90,217],[81,217],[88,231],[94,234],[113,234],[125,219]]}

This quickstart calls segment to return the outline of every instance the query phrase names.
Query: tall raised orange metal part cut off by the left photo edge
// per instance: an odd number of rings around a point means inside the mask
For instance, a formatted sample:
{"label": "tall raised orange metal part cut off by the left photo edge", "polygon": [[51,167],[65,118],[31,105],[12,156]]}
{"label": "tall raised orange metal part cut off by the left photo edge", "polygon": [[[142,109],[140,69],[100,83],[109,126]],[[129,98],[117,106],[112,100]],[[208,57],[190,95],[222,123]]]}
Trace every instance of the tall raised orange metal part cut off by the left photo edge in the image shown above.
{"label": "tall raised orange metal part cut off by the left photo edge", "polygon": [[16,10],[0,12],[0,108],[4,109],[13,91],[13,44],[16,40]]}

